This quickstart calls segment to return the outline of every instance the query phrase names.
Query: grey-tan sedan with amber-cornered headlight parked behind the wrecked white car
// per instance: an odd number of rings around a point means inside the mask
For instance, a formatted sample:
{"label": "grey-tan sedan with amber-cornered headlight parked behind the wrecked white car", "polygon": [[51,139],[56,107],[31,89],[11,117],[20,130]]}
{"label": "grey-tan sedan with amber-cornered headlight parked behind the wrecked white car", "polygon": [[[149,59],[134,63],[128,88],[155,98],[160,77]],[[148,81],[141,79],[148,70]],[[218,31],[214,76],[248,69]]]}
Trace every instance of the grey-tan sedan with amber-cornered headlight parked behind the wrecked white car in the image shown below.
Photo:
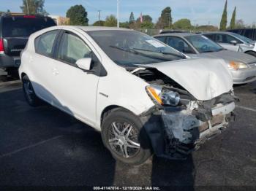
{"label": "grey-tan sedan with amber-cornered headlight parked behind the wrecked white car", "polygon": [[[256,79],[256,58],[242,52],[225,50],[200,34],[162,34],[154,36],[191,58],[222,58],[233,75],[234,84],[246,84]],[[208,63],[206,63],[208,64]]]}

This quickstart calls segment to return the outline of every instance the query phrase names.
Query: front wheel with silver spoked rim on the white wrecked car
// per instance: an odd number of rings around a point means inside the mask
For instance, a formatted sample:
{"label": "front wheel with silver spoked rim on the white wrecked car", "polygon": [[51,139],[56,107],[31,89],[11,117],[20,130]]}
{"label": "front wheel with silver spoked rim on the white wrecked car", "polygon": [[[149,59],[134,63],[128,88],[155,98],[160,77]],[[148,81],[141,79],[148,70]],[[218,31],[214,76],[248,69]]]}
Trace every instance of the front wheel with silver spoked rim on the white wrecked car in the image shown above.
{"label": "front wheel with silver spoked rim on the white wrecked car", "polygon": [[125,109],[113,109],[103,119],[102,141],[113,157],[123,163],[140,165],[152,155],[151,142],[140,118]]}

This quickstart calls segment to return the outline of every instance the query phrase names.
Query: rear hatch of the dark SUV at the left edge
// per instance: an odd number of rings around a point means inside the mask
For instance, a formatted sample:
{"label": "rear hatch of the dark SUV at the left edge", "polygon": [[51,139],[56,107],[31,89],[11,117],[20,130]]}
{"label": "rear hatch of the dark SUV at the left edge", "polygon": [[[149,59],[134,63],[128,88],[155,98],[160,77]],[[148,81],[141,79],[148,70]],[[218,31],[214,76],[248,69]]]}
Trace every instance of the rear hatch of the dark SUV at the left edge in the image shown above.
{"label": "rear hatch of the dark SUV at the left edge", "polygon": [[2,37],[4,39],[4,53],[9,56],[20,56],[26,47],[30,34],[55,26],[54,21],[48,17],[10,16],[2,18]]}

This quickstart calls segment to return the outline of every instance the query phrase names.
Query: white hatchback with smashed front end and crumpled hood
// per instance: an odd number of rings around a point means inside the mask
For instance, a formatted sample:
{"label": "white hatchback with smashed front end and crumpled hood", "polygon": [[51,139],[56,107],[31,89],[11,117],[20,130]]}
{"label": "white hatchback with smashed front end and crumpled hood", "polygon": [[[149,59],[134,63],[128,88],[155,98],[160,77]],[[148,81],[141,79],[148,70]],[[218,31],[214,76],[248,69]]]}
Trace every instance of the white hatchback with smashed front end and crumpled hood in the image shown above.
{"label": "white hatchback with smashed front end and crumpled hood", "polygon": [[31,106],[46,101],[101,131],[124,163],[143,163],[153,152],[184,159],[225,129],[235,109],[224,61],[186,59],[128,29],[38,31],[21,53],[19,74]]}

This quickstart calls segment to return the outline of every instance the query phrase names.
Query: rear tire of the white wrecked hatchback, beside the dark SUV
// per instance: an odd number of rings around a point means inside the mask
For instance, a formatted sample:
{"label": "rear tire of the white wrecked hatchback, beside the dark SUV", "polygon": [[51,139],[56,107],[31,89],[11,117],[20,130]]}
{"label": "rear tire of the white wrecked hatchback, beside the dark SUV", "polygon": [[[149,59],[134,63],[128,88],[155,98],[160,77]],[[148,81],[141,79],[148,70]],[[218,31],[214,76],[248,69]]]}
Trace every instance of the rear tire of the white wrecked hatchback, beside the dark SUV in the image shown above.
{"label": "rear tire of the white wrecked hatchback, beside the dark SUV", "polygon": [[25,95],[26,101],[30,106],[39,106],[41,104],[40,99],[34,93],[34,88],[29,80],[29,77],[24,76],[22,78],[22,86],[23,86],[23,93]]}

